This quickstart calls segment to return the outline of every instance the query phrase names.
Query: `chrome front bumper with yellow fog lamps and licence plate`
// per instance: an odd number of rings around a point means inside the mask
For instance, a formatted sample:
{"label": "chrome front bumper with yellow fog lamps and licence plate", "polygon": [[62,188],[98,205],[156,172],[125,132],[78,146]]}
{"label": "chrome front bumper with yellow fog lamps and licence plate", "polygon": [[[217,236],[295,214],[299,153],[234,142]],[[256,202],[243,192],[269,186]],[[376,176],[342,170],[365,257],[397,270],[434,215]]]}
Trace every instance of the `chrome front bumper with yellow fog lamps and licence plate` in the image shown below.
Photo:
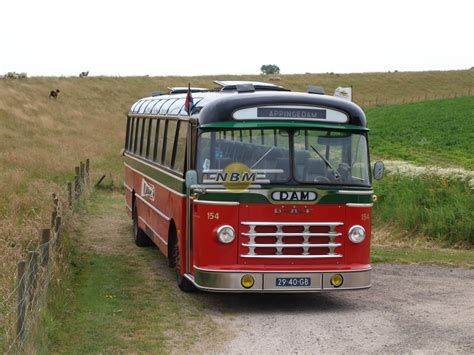
{"label": "chrome front bumper with yellow fog lamps and licence plate", "polygon": [[[369,288],[372,268],[345,271],[222,271],[194,267],[194,277],[185,275],[198,289],[212,292],[322,292],[339,290],[357,290]],[[344,282],[339,287],[331,285],[333,275],[340,274]],[[241,279],[251,275],[255,283],[251,288],[244,288]],[[277,278],[310,278],[310,286],[276,286]]]}

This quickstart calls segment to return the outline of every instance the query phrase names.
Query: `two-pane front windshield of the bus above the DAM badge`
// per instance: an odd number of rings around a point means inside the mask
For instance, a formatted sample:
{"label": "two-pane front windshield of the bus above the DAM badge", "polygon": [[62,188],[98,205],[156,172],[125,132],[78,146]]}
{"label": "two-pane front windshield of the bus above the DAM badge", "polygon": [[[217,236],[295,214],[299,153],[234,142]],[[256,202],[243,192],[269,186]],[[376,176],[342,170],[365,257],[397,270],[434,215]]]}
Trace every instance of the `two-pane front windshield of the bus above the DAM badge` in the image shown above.
{"label": "two-pane front windshield of the bus above the DAM badge", "polygon": [[347,131],[245,129],[200,134],[201,183],[216,183],[216,176],[233,163],[256,173],[258,184],[370,185],[367,140]]}

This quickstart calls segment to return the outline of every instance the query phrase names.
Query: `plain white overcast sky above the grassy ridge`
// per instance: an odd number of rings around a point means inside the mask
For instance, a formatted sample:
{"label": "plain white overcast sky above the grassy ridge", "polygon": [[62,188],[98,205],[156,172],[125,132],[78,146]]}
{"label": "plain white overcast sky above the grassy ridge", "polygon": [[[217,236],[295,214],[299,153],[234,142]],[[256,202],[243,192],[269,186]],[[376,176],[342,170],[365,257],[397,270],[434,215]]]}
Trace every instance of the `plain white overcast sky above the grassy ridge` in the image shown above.
{"label": "plain white overcast sky above the grassy ridge", "polygon": [[0,75],[474,66],[474,0],[1,0]]}

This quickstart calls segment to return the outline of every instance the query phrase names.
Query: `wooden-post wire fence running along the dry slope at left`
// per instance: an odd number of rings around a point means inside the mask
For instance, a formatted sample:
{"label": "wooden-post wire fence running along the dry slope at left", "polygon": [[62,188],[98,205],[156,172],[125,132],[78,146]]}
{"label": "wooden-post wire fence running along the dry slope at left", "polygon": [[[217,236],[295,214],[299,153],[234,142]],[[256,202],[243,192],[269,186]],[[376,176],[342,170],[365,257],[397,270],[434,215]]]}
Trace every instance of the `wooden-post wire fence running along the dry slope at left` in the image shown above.
{"label": "wooden-post wire fence running along the dry slope at left", "polygon": [[5,354],[25,351],[26,344],[34,336],[41,309],[46,304],[49,284],[61,269],[65,221],[90,191],[87,159],[75,168],[74,180],[67,183],[59,194],[53,194],[51,224],[39,231],[36,248],[28,251],[25,260],[18,262],[15,285],[0,301]]}

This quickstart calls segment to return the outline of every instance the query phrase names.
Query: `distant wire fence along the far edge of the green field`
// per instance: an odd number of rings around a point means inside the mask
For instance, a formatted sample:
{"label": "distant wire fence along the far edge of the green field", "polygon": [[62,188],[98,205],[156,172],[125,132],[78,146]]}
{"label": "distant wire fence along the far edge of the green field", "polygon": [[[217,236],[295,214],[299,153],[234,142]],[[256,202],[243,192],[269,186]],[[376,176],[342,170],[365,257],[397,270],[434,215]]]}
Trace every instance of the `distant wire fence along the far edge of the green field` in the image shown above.
{"label": "distant wire fence along the far edge of the green field", "polygon": [[458,97],[466,97],[474,95],[474,88],[469,88],[459,92],[450,92],[450,93],[429,93],[425,92],[417,96],[403,96],[396,95],[394,97],[386,96],[372,96],[370,99],[361,98],[360,100],[357,97],[354,98],[354,101],[362,107],[374,107],[374,106],[386,106],[386,105],[403,105],[410,104],[421,101],[433,101],[433,100],[444,100],[444,99],[454,99]]}

